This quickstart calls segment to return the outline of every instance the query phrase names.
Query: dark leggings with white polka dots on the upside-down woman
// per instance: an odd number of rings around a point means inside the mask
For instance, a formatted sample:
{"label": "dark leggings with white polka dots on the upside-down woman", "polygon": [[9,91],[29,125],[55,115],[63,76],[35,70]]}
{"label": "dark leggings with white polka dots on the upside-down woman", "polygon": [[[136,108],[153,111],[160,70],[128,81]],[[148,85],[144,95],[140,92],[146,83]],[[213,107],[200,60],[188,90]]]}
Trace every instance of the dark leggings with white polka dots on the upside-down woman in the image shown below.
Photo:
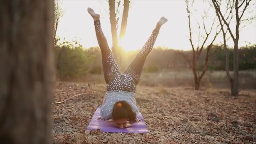
{"label": "dark leggings with white polka dots on the upside-down woman", "polygon": [[141,71],[147,55],[153,48],[159,29],[154,29],[151,36],[131,64],[121,73],[120,69],[109,49],[106,37],[104,36],[100,21],[94,21],[96,37],[101,48],[102,65],[104,78],[107,83],[107,91],[128,91],[135,92],[139,83]]}

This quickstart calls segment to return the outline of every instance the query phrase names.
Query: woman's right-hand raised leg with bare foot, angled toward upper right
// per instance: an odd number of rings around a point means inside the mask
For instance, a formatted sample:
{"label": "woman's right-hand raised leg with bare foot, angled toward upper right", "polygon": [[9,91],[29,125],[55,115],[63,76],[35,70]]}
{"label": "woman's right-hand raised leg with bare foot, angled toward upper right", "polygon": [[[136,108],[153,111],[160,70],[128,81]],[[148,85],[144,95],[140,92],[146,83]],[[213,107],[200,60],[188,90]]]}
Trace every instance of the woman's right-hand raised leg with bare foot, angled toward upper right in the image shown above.
{"label": "woman's right-hand raised leg with bare foot, angled toward upper right", "polygon": [[157,22],[155,29],[153,30],[153,32],[152,32],[151,36],[149,37],[149,39],[147,40],[147,42],[142,47],[141,51],[139,51],[139,53],[133,59],[131,64],[127,67],[127,69],[125,69],[124,73],[127,73],[133,77],[133,82],[135,83],[135,85],[137,85],[139,83],[139,79],[141,76],[142,68],[144,66],[144,62],[155,44],[155,40],[157,38],[157,35],[158,35],[158,32],[159,32],[161,26],[166,21],[167,21],[167,19],[162,17],[160,19],[160,21]]}

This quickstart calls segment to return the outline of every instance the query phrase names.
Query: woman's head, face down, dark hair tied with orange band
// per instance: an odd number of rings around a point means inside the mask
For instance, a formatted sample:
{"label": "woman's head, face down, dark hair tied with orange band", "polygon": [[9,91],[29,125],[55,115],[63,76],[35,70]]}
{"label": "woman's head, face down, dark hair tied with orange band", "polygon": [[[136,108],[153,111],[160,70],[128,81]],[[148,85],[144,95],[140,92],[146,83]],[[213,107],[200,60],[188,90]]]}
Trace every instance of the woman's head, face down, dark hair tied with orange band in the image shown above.
{"label": "woman's head, face down, dark hair tied with orange band", "polygon": [[136,114],[126,101],[118,101],[113,107],[112,118],[117,128],[125,128],[127,121],[134,122]]}

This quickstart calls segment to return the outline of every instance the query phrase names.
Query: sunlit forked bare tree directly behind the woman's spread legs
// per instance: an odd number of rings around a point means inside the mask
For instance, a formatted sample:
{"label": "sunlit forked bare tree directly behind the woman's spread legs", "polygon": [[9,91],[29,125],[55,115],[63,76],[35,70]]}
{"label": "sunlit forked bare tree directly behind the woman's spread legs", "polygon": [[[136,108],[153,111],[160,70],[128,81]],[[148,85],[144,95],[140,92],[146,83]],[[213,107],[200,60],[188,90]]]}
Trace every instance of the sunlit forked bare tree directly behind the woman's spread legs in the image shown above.
{"label": "sunlit forked bare tree directly behind the woman's spread legs", "polygon": [[123,49],[121,46],[121,40],[125,36],[125,29],[127,26],[128,11],[129,11],[129,3],[130,3],[129,0],[124,0],[123,17],[122,17],[121,30],[120,30],[119,40],[118,40],[117,22],[120,18],[117,16],[117,13],[119,12],[121,0],[117,1],[117,8],[115,6],[116,4],[115,0],[109,0],[109,19],[110,19],[111,33],[112,33],[112,52],[119,66],[122,61]]}

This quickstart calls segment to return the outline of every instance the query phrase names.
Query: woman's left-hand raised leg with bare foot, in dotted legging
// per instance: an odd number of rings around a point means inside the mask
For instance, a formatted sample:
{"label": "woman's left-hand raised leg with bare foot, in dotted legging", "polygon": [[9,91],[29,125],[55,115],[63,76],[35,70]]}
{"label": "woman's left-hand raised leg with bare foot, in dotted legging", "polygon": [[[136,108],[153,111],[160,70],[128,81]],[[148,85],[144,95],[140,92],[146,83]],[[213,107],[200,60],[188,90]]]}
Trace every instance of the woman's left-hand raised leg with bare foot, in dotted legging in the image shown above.
{"label": "woman's left-hand raised leg with bare foot, in dotted legging", "polygon": [[109,83],[110,79],[112,79],[115,74],[120,73],[120,69],[109,49],[106,37],[102,32],[101,23],[99,21],[99,14],[96,14],[91,8],[88,8],[88,13],[91,14],[94,20],[96,37],[99,43],[99,47],[101,48],[104,78],[106,83]]}

